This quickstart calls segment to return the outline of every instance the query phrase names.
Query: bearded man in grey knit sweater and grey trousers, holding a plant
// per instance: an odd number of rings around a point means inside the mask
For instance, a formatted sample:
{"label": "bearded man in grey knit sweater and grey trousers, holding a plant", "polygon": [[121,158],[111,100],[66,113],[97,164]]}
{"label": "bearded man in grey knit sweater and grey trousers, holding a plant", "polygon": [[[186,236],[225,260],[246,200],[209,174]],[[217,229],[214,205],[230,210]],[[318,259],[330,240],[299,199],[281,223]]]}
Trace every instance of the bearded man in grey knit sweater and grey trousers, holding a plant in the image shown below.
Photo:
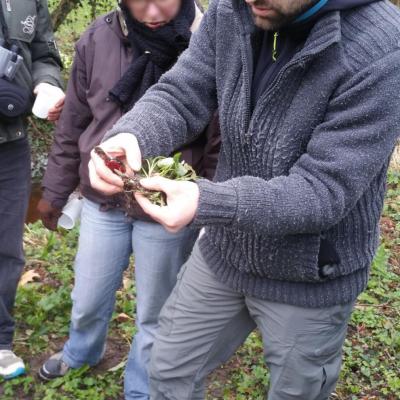
{"label": "bearded man in grey knit sweater and grey trousers, holding a plant", "polygon": [[[214,0],[189,49],[106,135],[103,148],[166,155],[218,107],[214,182],[143,180],[168,205],[137,201],[167,229],[204,227],[165,305],[152,399],[202,398],[221,332],[253,320],[269,400],[326,400],[347,321],[379,240],[400,131],[400,13],[388,1]],[[95,154],[92,185],[122,182]],[[251,318],[250,318],[251,317]]]}

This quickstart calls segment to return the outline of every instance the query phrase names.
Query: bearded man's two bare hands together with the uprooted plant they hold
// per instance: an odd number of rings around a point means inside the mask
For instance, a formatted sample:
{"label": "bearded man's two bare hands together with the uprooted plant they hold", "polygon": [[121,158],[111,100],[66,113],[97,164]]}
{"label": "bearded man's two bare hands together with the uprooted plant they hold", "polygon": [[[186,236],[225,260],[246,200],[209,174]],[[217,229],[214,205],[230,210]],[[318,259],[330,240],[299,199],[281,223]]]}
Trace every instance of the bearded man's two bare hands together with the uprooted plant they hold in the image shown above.
{"label": "bearded man's two bare hands together with the uprooted plant they hold", "polygon": [[[134,172],[135,171],[135,172]],[[123,191],[167,230],[177,232],[189,224],[199,199],[193,168],[174,157],[144,160],[134,135],[120,133],[92,151],[89,163],[92,186],[112,195]]]}

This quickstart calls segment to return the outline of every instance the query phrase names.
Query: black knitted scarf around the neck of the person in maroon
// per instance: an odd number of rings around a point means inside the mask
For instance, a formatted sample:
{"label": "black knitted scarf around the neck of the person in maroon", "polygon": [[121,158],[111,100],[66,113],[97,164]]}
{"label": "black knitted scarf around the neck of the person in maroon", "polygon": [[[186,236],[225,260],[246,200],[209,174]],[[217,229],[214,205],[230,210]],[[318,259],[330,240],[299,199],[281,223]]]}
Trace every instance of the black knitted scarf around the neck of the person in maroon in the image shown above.
{"label": "black knitted scarf around the neck of the person in maroon", "polygon": [[121,4],[121,9],[128,28],[128,40],[140,54],[110,91],[110,98],[126,112],[188,47],[196,8],[194,0],[182,0],[179,14],[154,30],[135,20],[126,6]]}

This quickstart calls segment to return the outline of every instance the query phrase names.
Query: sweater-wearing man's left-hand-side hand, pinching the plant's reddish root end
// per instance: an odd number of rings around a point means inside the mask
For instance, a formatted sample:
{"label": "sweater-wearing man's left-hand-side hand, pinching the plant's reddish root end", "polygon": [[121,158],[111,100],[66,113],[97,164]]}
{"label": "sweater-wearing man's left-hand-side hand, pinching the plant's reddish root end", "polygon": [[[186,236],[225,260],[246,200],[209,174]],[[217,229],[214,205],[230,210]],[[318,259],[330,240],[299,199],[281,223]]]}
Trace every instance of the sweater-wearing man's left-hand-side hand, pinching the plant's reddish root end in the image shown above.
{"label": "sweater-wearing man's left-hand-side hand, pinching the plant's reddish root end", "polygon": [[[118,157],[131,171],[139,171],[142,157],[139,144],[131,133],[119,133],[103,142],[100,147],[110,156]],[[92,150],[89,162],[89,178],[94,189],[106,195],[122,191],[122,179],[115,175],[104,161]]]}

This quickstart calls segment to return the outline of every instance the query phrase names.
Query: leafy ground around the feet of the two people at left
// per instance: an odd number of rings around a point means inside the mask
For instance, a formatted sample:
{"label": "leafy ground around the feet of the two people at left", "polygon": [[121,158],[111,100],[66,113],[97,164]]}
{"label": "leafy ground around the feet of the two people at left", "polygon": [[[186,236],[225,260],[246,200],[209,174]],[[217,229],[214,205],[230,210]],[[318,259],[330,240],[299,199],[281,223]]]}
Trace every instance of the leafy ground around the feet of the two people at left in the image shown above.
{"label": "leafy ground around the feet of the two people at left", "polygon": [[[20,287],[17,295],[16,352],[28,363],[28,375],[1,382],[1,399],[119,399],[121,374],[134,333],[134,294],[130,267],[124,289],[117,293],[117,306],[111,322],[109,351],[105,362],[87,372],[73,371],[65,379],[43,384],[36,373],[41,362],[64,343],[68,335],[73,284],[72,263],[77,231],[49,233],[40,223],[26,228],[25,273],[34,272],[34,281]],[[25,275],[27,276],[27,275]],[[129,317],[131,316],[131,317]]]}

